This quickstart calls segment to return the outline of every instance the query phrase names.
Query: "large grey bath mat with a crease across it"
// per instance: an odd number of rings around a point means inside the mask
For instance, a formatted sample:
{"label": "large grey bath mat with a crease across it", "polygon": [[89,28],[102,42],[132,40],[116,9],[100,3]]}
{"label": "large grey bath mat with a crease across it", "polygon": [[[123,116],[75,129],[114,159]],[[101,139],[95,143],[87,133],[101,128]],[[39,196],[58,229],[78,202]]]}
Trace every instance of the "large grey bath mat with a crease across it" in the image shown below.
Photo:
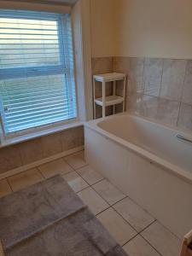
{"label": "large grey bath mat with a crease across it", "polygon": [[8,256],[126,255],[62,177],[0,199]]}

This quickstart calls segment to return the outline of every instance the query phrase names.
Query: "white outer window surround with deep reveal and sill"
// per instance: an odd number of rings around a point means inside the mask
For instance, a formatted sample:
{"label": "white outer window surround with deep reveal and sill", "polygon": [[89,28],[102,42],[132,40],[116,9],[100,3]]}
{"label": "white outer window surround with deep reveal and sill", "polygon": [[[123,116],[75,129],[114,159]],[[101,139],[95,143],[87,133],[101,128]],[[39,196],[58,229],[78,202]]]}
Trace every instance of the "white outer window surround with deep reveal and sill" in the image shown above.
{"label": "white outer window surround with deep reveal and sill", "polygon": [[[84,121],[93,119],[92,104],[92,75],[91,75],[91,37],[90,37],[90,0],[79,0],[73,7],[54,4],[36,4],[25,2],[0,1],[1,9],[28,9],[36,11],[49,11],[60,14],[72,15],[73,27],[73,57],[75,63],[76,79],[76,101],[78,118],[65,124],[51,125],[41,127],[36,131],[28,131],[26,135],[15,136],[14,138],[3,137],[3,131],[0,124],[0,148],[11,144],[27,141],[35,137],[41,137],[55,131],[69,129],[74,125],[83,125]],[[80,110],[80,111],[79,111]],[[1,119],[0,119],[1,122]]]}

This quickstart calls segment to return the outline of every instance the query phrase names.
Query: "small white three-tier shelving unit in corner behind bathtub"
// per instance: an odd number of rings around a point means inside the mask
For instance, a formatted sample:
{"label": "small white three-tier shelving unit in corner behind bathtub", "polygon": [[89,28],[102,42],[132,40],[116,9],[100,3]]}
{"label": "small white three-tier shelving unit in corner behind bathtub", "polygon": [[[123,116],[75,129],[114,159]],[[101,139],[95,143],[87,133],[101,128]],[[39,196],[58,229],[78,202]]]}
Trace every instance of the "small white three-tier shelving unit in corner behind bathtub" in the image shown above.
{"label": "small white three-tier shelving unit in corner behind bathtub", "polygon": [[[123,96],[116,95],[117,81],[123,80]],[[96,98],[96,82],[102,83],[102,97]],[[106,83],[113,82],[113,95],[106,96]],[[125,111],[125,84],[126,75],[124,73],[105,73],[93,76],[93,93],[94,93],[94,118],[96,119],[96,105],[102,107],[102,117],[106,116],[106,107],[113,106],[115,113],[115,105],[123,103],[123,112]]]}

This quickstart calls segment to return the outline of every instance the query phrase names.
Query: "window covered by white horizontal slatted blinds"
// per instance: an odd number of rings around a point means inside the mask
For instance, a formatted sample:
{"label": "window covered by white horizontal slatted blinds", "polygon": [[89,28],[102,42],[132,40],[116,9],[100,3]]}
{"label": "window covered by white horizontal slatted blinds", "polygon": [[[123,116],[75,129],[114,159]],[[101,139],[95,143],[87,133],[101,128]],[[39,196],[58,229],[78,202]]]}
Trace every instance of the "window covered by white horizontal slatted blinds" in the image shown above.
{"label": "window covered by white horizontal slatted blinds", "polygon": [[0,10],[5,135],[77,117],[70,15]]}

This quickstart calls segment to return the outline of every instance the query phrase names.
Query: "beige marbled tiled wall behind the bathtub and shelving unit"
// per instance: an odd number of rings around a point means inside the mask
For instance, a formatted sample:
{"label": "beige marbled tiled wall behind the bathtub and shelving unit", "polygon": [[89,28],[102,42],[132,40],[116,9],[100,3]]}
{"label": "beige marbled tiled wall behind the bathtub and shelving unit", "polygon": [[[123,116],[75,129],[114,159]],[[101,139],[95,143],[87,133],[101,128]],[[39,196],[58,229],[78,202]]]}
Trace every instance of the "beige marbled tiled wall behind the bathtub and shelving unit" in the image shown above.
{"label": "beige marbled tiled wall behind the bathtub and shelving unit", "polygon": [[114,72],[127,74],[126,110],[192,131],[192,61],[109,57],[92,63],[93,73],[111,72],[106,67],[113,63]]}

